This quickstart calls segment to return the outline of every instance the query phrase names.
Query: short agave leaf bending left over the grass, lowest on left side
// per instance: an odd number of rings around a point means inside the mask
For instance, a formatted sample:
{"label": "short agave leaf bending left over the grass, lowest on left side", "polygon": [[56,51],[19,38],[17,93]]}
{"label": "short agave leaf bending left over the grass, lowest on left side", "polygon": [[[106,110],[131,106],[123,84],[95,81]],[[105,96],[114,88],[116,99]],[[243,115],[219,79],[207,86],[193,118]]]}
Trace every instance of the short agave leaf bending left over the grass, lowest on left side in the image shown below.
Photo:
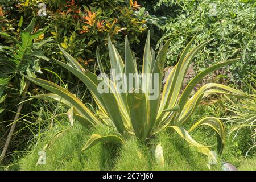
{"label": "short agave leaf bending left over the grass, lowest on left side", "polygon": [[101,135],[93,134],[92,137],[88,140],[85,146],[82,148],[82,151],[88,150],[90,147],[94,146],[99,142],[110,142],[115,144],[123,144],[123,140],[117,135],[106,135],[101,137]]}

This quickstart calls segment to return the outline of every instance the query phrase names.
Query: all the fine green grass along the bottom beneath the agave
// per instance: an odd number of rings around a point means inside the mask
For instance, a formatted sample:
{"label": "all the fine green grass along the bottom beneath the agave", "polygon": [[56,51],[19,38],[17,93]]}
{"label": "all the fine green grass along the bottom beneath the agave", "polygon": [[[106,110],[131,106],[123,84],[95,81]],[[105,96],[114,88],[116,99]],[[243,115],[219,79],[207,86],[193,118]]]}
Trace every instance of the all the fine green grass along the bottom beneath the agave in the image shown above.
{"label": "all the fine green grass along the bottom beneath the agave", "polygon": [[[195,114],[189,125],[192,125],[201,115]],[[60,124],[61,123],[61,124]],[[56,135],[63,131],[59,135]],[[256,170],[256,156],[244,158],[239,152],[240,145],[232,137],[226,138],[223,154],[217,157],[218,164],[208,168],[208,157],[200,154],[196,147],[189,146],[179,135],[158,133],[147,145],[138,142],[135,137],[127,138],[122,146],[99,143],[81,152],[86,141],[94,133],[100,135],[117,134],[113,127],[101,126],[96,129],[85,129],[80,123],[73,126],[67,118],[60,119],[52,129],[44,131],[40,139],[30,146],[30,151],[24,156],[17,169],[21,170],[220,170],[222,162],[228,162],[239,170]],[[117,134],[118,135],[118,134]],[[169,136],[170,135],[170,136]],[[192,137],[202,144],[214,144],[216,138],[212,131],[201,128],[191,133]],[[46,151],[46,164],[36,165],[38,152],[49,144]],[[161,144],[164,154],[164,166],[155,160],[154,149]],[[216,151],[216,146],[212,150]]]}

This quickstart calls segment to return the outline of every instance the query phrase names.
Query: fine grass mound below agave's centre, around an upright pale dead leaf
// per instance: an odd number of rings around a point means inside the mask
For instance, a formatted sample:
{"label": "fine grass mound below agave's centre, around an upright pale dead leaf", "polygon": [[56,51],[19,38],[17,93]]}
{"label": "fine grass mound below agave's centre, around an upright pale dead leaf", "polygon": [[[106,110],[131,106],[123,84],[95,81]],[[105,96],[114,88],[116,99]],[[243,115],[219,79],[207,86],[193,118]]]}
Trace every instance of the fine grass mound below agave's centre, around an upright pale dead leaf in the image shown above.
{"label": "fine grass mound below agave's centre, around an upright pale dead leaf", "polygon": [[[141,146],[131,139],[123,146],[116,170],[209,170],[207,156],[199,154],[196,148],[189,147],[179,136],[171,139],[166,132],[159,133],[152,144]],[[161,144],[164,154],[164,166],[154,157],[156,144]]]}

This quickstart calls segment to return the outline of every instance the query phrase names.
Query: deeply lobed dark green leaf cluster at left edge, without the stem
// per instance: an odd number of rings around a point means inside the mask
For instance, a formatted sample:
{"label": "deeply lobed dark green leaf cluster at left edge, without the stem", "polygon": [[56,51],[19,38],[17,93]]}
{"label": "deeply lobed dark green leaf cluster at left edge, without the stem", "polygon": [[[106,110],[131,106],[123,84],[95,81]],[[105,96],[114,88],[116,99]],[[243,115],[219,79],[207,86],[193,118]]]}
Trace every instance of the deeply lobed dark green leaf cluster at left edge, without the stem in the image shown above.
{"label": "deeply lobed dark green leaf cluster at left edge, without the stem", "polygon": [[[22,26],[23,18],[19,21],[19,27]],[[30,24],[20,30],[17,37],[0,32],[0,36],[10,40],[11,46],[0,45],[0,88],[10,85],[14,89],[19,89],[22,94],[26,83],[22,73],[35,76],[34,72],[39,72],[39,60],[46,59],[40,47],[44,42],[36,42],[37,39],[47,30],[48,27],[42,30],[35,30],[35,17]],[[2,93],[1,93],[2,94]]]}

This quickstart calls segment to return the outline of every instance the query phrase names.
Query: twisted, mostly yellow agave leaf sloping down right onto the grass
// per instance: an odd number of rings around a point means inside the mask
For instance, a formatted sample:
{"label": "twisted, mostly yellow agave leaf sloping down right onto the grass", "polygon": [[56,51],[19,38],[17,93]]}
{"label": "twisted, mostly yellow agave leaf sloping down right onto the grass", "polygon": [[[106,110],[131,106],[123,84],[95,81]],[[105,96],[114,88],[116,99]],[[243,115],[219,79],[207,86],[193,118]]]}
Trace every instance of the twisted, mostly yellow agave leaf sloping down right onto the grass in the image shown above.
{"label": "twisted, mostly yellow agave leaf sloping down right onto the grass", "polygon": [[188,143],[192,144],[193,146],[199,147],[199,148],[210,148],[213,146],[204,146],[203,144],[200,144],[196,142],[189,134],[188,132],[184,129],[184,127],[181,126],[167,126],[166,130],[175,130],[177,134],[180,135],[184,140],[186,140]]}

